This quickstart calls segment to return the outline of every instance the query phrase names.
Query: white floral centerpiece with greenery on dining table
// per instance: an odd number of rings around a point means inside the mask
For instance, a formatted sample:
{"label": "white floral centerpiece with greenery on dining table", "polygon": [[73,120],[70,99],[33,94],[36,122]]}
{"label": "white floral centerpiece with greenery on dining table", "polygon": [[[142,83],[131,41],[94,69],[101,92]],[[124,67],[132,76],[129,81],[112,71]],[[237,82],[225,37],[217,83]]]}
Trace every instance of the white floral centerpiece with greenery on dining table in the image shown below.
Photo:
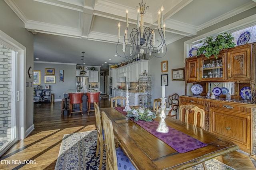
{"label": "white floral centerpiece with greenery on dining table", "polygon": [[146,122],[152,122],[153,119],[156,119],[156,112],[152,112],[150,109],[134,109],[127,112],[127,117],[133,117],[134,121],[143,120]]}

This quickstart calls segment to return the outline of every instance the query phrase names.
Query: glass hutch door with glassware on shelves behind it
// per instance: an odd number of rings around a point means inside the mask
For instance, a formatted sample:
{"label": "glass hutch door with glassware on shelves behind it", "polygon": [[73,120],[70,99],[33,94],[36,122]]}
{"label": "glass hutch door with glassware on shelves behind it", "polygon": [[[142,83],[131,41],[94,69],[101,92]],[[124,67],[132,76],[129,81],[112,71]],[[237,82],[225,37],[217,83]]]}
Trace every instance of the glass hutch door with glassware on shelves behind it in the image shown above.
{"label": "glass hutch door with glassware on shelves behind it", "polygon": [[200,71],[202,80],[225,79],[225,54],[218,55],[218,58],[202,58]]}

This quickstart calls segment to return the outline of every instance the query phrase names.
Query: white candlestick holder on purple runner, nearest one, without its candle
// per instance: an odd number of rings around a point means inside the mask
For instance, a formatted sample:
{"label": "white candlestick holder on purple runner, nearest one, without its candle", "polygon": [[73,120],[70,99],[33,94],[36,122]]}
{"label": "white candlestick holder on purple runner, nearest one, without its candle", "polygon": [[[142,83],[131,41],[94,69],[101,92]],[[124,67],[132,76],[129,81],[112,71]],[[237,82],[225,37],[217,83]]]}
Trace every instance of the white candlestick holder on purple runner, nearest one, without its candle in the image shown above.
{"label": "white candlestick holder on purple runner, nearest one, without its candle", "polygon": [[161,121],[159,122],[158,124],[158,128],[156,129],[157,132],[160,132],[160,133],[168,133],[169,132],[169,128],[166,126],[166,123],[164,121],[164,119],[166,118],[166,115],[165,115],[165,99],[164,97],[161,97],[161,113],[160,113],[160,118],[161,118]]}

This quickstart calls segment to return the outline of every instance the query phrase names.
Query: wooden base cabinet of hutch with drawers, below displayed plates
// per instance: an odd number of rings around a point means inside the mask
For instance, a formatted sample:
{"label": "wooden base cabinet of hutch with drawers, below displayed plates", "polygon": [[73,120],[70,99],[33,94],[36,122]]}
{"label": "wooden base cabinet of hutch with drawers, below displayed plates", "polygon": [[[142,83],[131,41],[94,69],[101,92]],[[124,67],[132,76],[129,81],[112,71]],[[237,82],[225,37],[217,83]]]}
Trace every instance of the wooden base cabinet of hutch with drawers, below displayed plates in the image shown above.
{"label": "wooden base cabinet of hutch with drawers, below displayed plates", "polygon": [[[204,129],[224,138],[229,138],[237,144],[240,150],[247,153],[256,153],[256,105],[202,97],[180,96],[179,105],[196,105],[205,111]],[[252,145],[252,146],[251,146]]]}

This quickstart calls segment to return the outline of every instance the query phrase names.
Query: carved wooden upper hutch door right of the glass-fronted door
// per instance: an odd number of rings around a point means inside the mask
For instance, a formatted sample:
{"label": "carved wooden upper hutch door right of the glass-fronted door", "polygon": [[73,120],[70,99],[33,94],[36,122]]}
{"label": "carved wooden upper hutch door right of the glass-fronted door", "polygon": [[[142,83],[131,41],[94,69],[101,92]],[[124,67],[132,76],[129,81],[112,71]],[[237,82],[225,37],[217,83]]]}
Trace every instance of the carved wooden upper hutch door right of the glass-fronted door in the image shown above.
{"label": "carved wooden upper hutch door right of the glass-fronted door", "polygon": [[[254,51],[255,53],[255,51]],[[238,46],[228,51],[228,80],[250,81],[251,45]]]}

